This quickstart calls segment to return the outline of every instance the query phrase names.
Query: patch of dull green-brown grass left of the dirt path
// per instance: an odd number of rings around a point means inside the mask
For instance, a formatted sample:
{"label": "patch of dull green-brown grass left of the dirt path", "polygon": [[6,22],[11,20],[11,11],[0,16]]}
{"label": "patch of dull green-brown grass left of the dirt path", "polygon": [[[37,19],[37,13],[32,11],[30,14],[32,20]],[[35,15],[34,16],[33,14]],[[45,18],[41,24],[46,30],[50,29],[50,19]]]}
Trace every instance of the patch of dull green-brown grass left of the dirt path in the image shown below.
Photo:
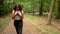
{"label": "patch of dull green-brown grass left of the dirt path", "polygon": [[0,31],[2,32],[6,26],[10,23],[11,18],[10,15],[5,15],[3,17],[0,17]]}

